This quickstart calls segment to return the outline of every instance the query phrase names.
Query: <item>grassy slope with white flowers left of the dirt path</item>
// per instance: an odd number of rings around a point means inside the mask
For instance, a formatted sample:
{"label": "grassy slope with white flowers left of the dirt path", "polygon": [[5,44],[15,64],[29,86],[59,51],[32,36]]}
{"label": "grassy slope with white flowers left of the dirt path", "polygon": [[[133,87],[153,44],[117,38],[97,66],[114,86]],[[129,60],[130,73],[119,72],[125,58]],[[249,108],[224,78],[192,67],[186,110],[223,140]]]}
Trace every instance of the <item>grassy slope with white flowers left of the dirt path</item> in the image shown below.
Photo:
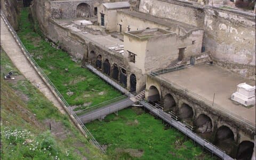
{"label": "grassy slope with white flowers left of the dirt path", "polygon": [[[10,70],[15,73],[16,80],[3,80],[3,73]],[[47,120],[58,123],[61,131],[65,131],[64,138],[55,137],[49,132],[49,124],[45,123]],[[14,131],[15,129],[17,131]],[[18,133],[17,139],[13,136],[7,139],[4,134],[6,132],[10,135],[25,130],[30,131],[25,138],[19,137],[21,133]],[[31,136],[32,134],[34,136]],[[30,140],[33,142],[23,144]],[[49,146],[51,148],[48,148]],[[31,151],[29,148],[36,149]],[[54,159],[55,156],[60,159],[106,158],[77,131],[67,116],[60,114],[57,108],[13,67],[1,49],[1,159]]]}

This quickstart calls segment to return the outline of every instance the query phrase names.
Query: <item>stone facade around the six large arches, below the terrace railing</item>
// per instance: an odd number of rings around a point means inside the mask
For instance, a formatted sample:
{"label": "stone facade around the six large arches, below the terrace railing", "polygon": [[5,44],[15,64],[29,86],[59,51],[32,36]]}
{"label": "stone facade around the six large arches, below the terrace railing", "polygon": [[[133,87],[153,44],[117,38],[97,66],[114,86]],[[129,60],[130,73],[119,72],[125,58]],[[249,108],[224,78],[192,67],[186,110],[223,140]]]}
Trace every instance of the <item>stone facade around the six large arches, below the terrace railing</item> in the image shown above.
{"label": "stone facade around the six large arches, below the terrace railing", "polygon": [[[209,116],[212,120],[214,119],[212,122],[213,133],[216,132],[216,130],[221,125],[226,125],[234,132],[234,137],[237,144],[239,144],[244,139],[244,137],[253,141],[255,130],[252,127],[246,126],[243,122],[231,118],[228,114],[223,113],[220,110],[216,110],[211,106],[208,106],[202,100],[192,98],[191,96],[185,94],[184,91],[182,91],[181,89],[172,86],[170,83],[167,83],[165,81],[159,81],[157,77],[147,76],[145,94],[146,99],[148,96],[148,89],[152,85],[157,87],[157,90],[161,96],[161,103],[163,103],[165,95],[169,93],[174,97],[175,103],[177,104],[176,107],[180,108],[183,103],[186,103],[193,108],[194,119],[201,114]],[[241,136],[243,136],[243,139],[239,138]]]}

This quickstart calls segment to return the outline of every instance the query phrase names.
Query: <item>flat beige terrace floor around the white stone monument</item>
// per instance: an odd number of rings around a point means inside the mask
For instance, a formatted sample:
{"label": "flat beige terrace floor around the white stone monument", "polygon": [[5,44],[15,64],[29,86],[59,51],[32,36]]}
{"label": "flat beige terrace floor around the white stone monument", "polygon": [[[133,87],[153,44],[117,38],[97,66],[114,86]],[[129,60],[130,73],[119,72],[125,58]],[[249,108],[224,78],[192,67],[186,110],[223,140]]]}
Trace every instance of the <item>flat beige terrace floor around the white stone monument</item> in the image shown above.
{"label": "flat beige terrace floor around the white stone monument", "polygon": [[[211,102],[215,93],[215,105],[217,104],[247,119],[255,126],[255,105],[251,108],[245,108],[242,105],[236,105],[236,103],[230,100],[231,94],[236,92],[238,84],[246,82],[254,86],[255,81],[245,79],[220,67],[208,64],[195,65],[191,68],[161,74],[161,76],[170,82],[172,81],[185,87],[189,92],[201,95],[201,97]],[[221,110],[221,108],[218,109]]]}

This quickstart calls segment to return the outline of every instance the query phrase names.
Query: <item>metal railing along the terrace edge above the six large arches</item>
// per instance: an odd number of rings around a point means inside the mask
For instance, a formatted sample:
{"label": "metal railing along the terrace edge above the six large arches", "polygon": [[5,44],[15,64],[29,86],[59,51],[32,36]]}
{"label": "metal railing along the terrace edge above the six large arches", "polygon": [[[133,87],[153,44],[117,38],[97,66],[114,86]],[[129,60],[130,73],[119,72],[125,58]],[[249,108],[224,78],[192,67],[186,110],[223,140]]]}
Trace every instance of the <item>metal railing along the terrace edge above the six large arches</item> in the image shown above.
{"label": "metal railing along the terrace edge above the six large arches", "polygon": [[201,101],[201,103],[203,104],[206,104],[207,106],[212,106],[212,108],[216,109],[216,110],[219,110],[221,111],[221,113],[225,113],[227,114],[229,117],[231,118],[235,118],[237,119],[238,121],[246,124],[246,125],[249,125],[251,126],[254,130],[255,130],[255,123],[249,121],[248,119],[244,118],[244,117],[241,117],[237,114],[235,114],[233,111],[230,111],[230,110],[227,110],[223,107],[221,107],[220,105],[216,104],[216,103],[213,103],[212,101],[206,99],[206,98],[203,98],[201,95],[198,95],[194,92],[191,92],[191,91],[188,91],[186,89],[186,87],[183,87],[181,85],[178,85],[176,83],[174,83],[173,81],[170,81],[169,79],[163,77],[162,75],[159,75],[159,74],[154,74],[153,72],[150,73],[151,76],[154,76],[156,78],[158,78],[159,80],[163,81],[163,82],[166,82],[168,84],[170,84],[172,87],[178,89],[178,90],[181,90],[183,94],[186,94],[188,95],[189,97],[192,97],[194,99],[197,99],[199,101]]}

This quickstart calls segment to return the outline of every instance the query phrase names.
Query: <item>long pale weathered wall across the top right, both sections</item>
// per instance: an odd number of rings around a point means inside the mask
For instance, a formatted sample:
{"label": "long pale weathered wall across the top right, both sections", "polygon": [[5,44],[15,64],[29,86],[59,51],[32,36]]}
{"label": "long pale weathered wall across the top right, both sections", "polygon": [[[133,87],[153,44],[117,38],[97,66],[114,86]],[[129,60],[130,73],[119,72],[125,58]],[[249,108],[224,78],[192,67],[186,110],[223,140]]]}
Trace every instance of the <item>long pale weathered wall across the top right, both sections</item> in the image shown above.
{"label": "long pale weathered wall across the top right, both sections", "polygon": [[[204,28],[203,46],[215,59],[255,65],[255,20],[253,19],[161,0],[141,0],[139,11]],[[234,68],[230,70],[234,71]],[[252,74],[246,76],[255,77]]]}

